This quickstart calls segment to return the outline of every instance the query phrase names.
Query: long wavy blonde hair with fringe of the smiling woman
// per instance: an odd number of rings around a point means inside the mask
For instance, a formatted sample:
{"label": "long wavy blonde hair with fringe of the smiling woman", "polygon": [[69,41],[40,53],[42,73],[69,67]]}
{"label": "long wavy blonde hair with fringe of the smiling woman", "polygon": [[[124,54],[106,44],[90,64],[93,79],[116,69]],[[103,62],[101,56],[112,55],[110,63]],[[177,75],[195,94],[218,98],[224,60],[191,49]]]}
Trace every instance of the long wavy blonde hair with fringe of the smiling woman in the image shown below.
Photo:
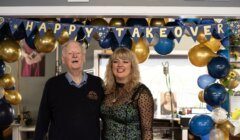
{"label": "long wavy blonde hair with fringe of the smiling woman", "polygon": [[127,90],[127,92],[131,92],[140,80],[138,60],[131,50],[125,47],[119,47],[113,52],[108,60],[105,72],[106,94],[111,94],[116,90],[116,79],[112,71],[112,63],[115,59],[127,59],[131,62],[131,72],[128,77],[129,81],[124,85],[124,89]]}

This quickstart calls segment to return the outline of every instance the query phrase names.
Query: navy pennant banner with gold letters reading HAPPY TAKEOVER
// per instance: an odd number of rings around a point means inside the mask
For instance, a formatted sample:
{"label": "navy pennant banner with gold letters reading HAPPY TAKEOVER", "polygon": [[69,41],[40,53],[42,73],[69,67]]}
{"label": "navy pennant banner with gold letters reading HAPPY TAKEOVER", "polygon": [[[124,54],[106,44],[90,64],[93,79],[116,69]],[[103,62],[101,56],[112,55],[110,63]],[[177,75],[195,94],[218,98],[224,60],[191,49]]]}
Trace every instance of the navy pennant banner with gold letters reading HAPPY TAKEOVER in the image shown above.
{"label": "navy pennant banner with gold letters reading HAPPY TAKEOVER", "polygon": [[134,27],[111,27],[111,26],[91,26],[91,25],[78,25],[78,24],[67,24],[67,23],[54,23],[54,22],[42,22],[27,19],[17,19],[12,17],[0,17],[0,29],[5,23],[9,24],[11,33],[14,34],[21,24],[24,24],[26,35],[29,36],[34,30],[38,30],[39,35],[42,36],[48,29],[53,30],[55,37],[58,38],[61,32],[67,30],[70,39],[75,39],[78,35],[79,30],[83,30],[85,39],[90,42],[94,34],[99,36],[99,39],[103,41],[109,32],[113,32],[118,43],[120,43],[127,32],[130,33],[135,42],[140,37],[146,38],[150,43],[154,35],[159,38],[167,38],[171,34],[171,38],[176,39],[178,42],[181,41],[184,33],[188,33],[194,41],[197,40],[199,33],[204,33],[207,39],[210,39],[213,33],[223,38],[229,29],[233,34],[239,34],[239,22],[230,21],[226,22],[222,20],[220,23],[214,24],[188,24],[181,26],[134,26]]}

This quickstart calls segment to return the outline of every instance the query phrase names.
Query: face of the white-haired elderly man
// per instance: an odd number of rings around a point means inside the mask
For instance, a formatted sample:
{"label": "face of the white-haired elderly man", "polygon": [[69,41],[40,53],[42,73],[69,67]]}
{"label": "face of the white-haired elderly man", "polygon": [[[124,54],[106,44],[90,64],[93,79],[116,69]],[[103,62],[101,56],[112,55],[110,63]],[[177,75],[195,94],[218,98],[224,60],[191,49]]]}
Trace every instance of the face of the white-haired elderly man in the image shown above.
{"label": "face of the white-haired elderly man", "polygon": [[83,64],[85,62],[85,54],[81,52],[80,47],[75,44],[69,44],[65,48],[65,52],[62,56],[62,62],[65,64],[69,71],[71,70],[83,70]]}

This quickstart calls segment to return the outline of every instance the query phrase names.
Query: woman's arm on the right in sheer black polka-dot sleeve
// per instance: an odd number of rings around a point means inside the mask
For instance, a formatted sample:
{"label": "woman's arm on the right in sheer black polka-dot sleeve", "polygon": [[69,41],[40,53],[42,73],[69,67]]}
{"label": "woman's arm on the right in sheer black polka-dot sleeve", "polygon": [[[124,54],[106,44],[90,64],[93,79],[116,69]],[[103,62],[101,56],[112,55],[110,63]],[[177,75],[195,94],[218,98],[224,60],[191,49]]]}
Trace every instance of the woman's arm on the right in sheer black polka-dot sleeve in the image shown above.
{"label": "woman's arm on the right in sheer black polka-dot sleeve", "polygon": [[153,139],[153,114],[154,102],[151,92],[148,89],[143,89],[138,99],[138,107],[141,118],[142,140]]}

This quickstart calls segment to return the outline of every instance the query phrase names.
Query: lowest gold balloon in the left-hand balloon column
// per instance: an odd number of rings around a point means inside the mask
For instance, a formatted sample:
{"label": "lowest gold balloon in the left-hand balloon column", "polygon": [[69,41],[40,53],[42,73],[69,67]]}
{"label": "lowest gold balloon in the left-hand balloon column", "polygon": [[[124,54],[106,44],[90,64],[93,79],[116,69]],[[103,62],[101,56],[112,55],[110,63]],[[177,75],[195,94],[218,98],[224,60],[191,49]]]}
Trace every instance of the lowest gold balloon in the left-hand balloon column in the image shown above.
{"label": "lowest gold balloon in the left-hand balloon column", "polygon": [[5,99],[13,105],[17,105],[22,101],[22,96],[16,90],[5,90],[4,91]]}

